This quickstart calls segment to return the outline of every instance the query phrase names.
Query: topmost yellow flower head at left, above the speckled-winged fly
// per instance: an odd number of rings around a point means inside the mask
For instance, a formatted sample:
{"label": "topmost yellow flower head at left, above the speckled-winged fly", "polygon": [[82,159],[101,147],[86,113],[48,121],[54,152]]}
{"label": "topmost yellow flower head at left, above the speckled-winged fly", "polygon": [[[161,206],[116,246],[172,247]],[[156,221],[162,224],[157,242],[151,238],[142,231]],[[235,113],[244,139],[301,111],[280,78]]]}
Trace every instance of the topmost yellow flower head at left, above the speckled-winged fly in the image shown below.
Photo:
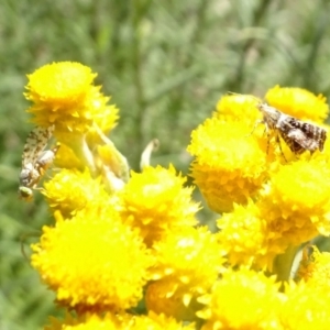
{"label": "topmost yellow flower head at left, above the speckled-winged fly", "polygon": [[95,77],[89,67],[74,62],[48,64],[28,75],[25,97],[33,102],[28,110],[34,114],[33,122],[55,124],[55,133],[84,133],[94,123],[105,132],[112,129],[118,109],[107,106],[109,98],[92,85]]}

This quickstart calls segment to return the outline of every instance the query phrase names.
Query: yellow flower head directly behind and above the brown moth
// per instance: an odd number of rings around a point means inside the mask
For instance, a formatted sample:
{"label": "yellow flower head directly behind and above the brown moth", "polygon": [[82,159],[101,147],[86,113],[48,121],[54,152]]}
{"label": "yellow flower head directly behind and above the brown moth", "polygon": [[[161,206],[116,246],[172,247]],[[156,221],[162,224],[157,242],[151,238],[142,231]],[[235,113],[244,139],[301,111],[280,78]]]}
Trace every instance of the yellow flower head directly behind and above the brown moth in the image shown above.
{"label": "yellow flower head directly behind and above the brown moth", "polygon": [[326,97],[315,96],[301,88],[275,86],[267,91],[265,98],[272,107],[302,120],[320,123],[329,113]]}

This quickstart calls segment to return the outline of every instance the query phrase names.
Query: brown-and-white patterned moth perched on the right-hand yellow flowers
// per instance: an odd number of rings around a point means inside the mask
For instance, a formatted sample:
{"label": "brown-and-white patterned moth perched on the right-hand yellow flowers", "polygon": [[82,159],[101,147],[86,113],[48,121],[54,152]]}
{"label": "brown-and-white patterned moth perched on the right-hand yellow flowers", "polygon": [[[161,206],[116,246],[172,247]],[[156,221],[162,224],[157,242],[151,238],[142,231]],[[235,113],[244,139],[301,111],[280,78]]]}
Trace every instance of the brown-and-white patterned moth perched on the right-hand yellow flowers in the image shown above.
{"label": "brown-and-white patterned moth perched on the right-hand yellow flowers", "polygon": [[263,114],[262,122],[266,127],[267,135],[270,131],[274,131],[279,147],[278,135],[295,155],[299,155],[305,151],[309,151],[312,154],[317,150],[323,150],[327,140],[327,131],[324,129],[285,114],[265,102],[260,102],[256,107]]}

